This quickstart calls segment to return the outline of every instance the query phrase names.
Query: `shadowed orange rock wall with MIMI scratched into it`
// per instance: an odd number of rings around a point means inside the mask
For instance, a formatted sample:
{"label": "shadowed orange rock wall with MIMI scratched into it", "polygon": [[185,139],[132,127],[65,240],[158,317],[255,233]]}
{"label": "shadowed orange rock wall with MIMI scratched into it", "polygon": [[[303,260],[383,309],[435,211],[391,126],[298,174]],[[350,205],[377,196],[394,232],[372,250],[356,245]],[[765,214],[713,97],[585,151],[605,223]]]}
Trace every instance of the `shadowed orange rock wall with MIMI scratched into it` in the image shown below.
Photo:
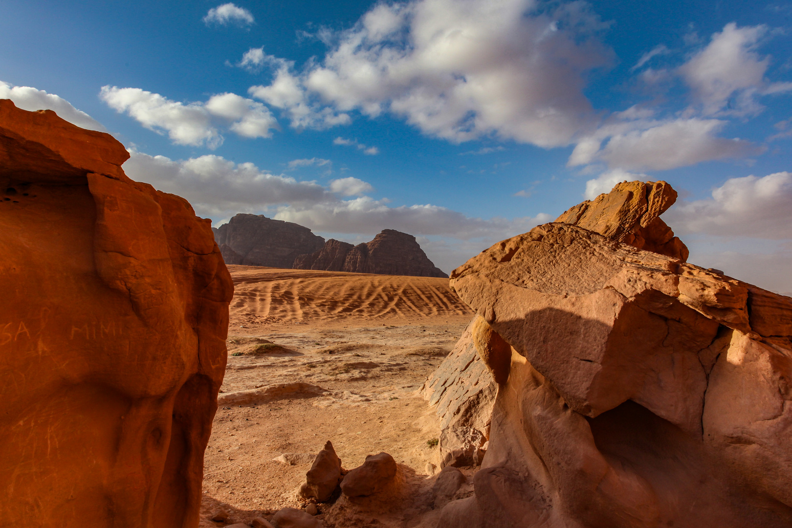
{"label": "shadowed orange rock wall with MIMI scratched into it", "polygon": [[0,519],[197,526],[230,275],[112,136],[0,100]]}

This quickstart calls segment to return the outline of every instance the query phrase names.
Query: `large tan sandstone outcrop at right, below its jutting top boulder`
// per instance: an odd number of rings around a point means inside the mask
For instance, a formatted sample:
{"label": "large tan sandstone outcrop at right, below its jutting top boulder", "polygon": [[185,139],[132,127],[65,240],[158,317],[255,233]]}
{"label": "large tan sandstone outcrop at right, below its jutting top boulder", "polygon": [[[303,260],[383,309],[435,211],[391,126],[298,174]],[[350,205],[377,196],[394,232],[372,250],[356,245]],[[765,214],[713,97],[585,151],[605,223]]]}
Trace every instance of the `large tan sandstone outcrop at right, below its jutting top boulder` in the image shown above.
{"label": "large tan sandstone outcrop at right, below its jutting top boulder", "polygon": [[792,524],[792,298],[566,223],[451,285],[512,359],[438,526]]}

